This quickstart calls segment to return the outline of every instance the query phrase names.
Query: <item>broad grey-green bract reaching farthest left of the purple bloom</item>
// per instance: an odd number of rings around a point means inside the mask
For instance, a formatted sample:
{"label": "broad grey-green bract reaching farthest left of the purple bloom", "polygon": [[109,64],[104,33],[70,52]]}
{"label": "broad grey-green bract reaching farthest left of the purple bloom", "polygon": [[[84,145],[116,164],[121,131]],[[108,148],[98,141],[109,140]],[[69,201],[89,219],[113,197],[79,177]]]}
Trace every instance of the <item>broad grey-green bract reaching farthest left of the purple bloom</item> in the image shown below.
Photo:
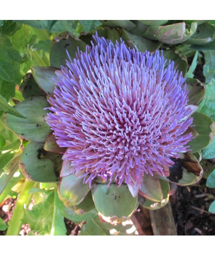
{"label": "broad grey-green bract reaching farthest left of the purple bloom", "polygon": [[26,140],[45,142],[51,130],[45,121],[49,110],[47,100],[42,96],[34,96],[21,101],[15,109],[26,118],[6,114],[6,123],[13,132]]}

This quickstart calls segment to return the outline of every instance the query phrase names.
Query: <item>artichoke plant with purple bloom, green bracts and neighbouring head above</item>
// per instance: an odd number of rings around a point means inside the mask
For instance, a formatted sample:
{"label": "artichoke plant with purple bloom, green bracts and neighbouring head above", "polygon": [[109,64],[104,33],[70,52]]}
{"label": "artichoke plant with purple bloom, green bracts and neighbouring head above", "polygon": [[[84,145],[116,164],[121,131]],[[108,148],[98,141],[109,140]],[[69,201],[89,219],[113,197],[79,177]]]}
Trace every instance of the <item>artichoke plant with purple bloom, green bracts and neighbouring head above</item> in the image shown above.
{"label": "artichoke plant with purple bloom, green bracts and neighbouring head above", "polygon": [[33,67],[20,87],[25,100],[15,109],[25,119],[6,114],[6,123],[20,137],[27,179],[59,183],[64,206],[78,215],[96,207],[113,220],[139,204],[159,209],[170,184],[202,177],[200,151],[214,123],[197,112],[205,87],[185,77],[181,56],[190,45],[210,44],[214,27],[101,23],[79,38],[53,40],[51,67]]}

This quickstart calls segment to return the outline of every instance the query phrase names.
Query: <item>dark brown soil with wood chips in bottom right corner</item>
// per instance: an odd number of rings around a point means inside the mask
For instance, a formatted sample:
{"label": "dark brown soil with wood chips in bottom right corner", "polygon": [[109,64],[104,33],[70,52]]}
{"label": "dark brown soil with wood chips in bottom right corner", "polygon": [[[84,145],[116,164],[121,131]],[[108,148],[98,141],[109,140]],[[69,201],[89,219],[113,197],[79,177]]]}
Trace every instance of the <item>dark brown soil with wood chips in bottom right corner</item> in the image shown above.
{"label": "dark brown soil with wood chips in bottom right corner", "polygon": [[170,202],[178,236],[215,235],[215,215],[208,211],[215,189],[206,187],[206,179],[196,186],[178,186]]}

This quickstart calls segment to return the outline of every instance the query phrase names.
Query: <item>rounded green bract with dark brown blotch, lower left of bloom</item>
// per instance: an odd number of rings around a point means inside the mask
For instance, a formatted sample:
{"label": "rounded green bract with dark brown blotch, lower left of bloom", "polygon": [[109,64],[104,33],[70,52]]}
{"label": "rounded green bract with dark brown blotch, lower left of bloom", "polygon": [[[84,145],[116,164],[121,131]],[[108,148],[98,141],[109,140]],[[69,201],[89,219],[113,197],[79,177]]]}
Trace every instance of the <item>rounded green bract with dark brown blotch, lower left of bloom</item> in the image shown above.
{"label": "rounded green bract with dark brown blotch, lower left of bloom", "polygon": [[62,165],[62,155],[49,153],[43,146],[43,143],[29,142],[21,154],[19,167],[30,181],[56,182]]}

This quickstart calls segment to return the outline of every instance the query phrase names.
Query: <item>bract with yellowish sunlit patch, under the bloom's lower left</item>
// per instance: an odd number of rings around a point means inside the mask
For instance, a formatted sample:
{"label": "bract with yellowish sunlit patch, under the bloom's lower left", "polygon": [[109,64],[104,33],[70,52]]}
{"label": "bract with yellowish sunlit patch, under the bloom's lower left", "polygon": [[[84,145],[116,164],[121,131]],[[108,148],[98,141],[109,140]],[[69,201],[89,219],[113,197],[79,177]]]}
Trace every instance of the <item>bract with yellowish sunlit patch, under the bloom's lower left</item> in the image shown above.
{"label": "bract with yellowish sunlit patch, under the bloom's lower left", "polygon": [[71,174],[61,179],[58,192],[64,205],[70,207],[80,204],[90,189],[89,184],[85,184],[83,178]]}

